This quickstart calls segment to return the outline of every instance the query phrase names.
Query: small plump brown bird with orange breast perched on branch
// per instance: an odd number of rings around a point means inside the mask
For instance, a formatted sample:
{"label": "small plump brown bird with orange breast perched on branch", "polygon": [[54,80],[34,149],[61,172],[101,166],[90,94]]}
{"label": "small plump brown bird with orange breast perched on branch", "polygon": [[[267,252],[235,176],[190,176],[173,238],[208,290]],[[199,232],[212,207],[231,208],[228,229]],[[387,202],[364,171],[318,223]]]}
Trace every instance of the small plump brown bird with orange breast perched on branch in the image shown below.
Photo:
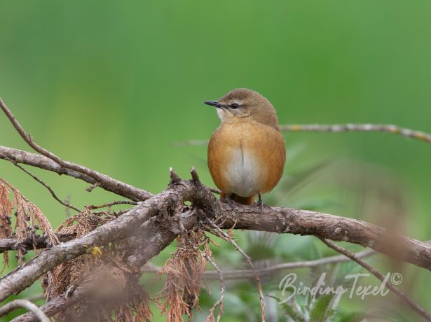
{"label": "small plump brown bird with orange breast perched on branch", "polygon": [[285,140],[272,104],[258,92],[238,88],[215,106],[221,125],[208,145],[208,167],[221,197],[252,204],[254,197],[273,190],[283,173]]}

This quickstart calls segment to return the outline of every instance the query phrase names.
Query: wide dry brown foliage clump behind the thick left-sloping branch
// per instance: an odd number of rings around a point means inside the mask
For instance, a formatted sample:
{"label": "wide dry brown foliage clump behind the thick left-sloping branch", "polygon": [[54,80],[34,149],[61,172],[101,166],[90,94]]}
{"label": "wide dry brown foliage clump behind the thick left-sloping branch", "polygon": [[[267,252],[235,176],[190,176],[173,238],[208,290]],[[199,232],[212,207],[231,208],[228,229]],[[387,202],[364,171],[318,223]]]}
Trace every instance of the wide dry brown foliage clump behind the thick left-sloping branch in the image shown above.
{"label": "wide dry brown foliage clump behind the thick left-sloping branch", "polygon": [[[87,207],[68,218],[57,232],[85,235],[114,218],[110,211],[93,213]],[[77,302],[55,316],[56,321],[149,321],[149,298],[139,286],[138,270],[124,264],[122,244],[89,247],[88,252],[55,267],[43,277],[47,300],[73,293],[77,286],[86,285],[91,296]]]}

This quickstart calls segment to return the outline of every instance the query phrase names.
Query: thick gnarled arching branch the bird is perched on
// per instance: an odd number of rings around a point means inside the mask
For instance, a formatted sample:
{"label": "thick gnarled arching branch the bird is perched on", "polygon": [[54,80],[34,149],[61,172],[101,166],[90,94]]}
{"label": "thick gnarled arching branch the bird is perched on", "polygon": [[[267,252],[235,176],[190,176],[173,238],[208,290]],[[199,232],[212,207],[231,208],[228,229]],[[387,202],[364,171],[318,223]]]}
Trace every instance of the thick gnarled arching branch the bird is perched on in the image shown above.
{"label": "thick gnarled arching branch the bird is perched on", "polygon": [[[383,228],[371,223],[314,211],[264,207],[264,214],[261,214],[258,206],[227,204],[217,200],[201,183],[179,180],[122,216],[101,225],[83,237],[53,246],[0,279],[0,301],[12,293],[27,288],[39,276],[60,262],[82,255],[89,246],[101,246],[110,241],[139,236],[142,232],[146,237],[140,241],[141,246],[137,247],[129,261],[136,267],[144,265],[146,260],[162,251],[181,231],[177,216],[173,215],[176,206],[185,201],[192,202],[195,208],[202,209],[202,211],[192,209],[179,214],[182,225],[187,230],[196,225],[199,216],[220,218],[224,221],[221,228],[231,228],[236,223],[236,229],[314,235],[334,241],[349,241],[431,269],[431,245],[422,241],[409,237],[394,238]],[[168,211],[168,214],[163,214],[164,211]],[[232,214],[235,214],[235,218],[231,218]],[[175,220],[170,220],[169,216]],[[148,254],[151,254],[151,257]]]}

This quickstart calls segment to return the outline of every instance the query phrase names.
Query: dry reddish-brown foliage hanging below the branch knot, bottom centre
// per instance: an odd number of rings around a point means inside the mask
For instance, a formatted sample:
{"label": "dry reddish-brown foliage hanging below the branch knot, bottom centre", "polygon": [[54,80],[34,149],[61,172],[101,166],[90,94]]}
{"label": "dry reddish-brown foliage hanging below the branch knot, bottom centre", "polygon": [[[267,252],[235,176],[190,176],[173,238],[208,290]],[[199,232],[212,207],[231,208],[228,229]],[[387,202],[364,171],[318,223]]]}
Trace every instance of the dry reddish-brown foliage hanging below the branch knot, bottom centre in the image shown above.
{"label": "dry reddish-brown foliage hanging below the branch knot, bottom centre", "polygon": [[199,294],[206,265],[200,248],[204,247],[204,251],[210,254],[208,242],[205,232],[198,228],[180,235],[177,238],[177,252],[157,273],[166,276],[165,286],[156,298],[156,304],[165,314],[167,322],[183,321],[182,314],[191,318],[192,309],[199,309]]}

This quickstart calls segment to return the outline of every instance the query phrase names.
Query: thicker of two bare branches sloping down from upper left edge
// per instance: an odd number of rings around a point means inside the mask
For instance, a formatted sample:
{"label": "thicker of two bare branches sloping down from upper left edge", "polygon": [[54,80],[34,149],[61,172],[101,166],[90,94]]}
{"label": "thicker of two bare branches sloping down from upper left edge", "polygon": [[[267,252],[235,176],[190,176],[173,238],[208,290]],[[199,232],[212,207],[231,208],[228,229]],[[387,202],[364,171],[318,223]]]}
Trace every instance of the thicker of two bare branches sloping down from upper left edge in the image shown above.
{"label": "thicker of two bare branches sloping down from upper left edge", "polygon": [[[97,176],[98,180],[96,180],[92,176],[88,176],[87,174],[84,174],[82,172],[77,172],[75,170],[64,168],[44,155],[21,151],[16,148],[0,146],[0,159],[12,160],[16,163],[21,163],[23,165],[31,165],[33,167],[38,167],[40,169],[55,172],[57,174],[66,174],[67,176],[72,176],[76,179],[80,179],[90,184],[97,184],[97,186],[103,188],[104,190],[110,191],[111,193],[115,193],[116,195],[121,195],[135,201],[146,200],[152,196],[151,193],[145,190],[135,188],[134,186],[113,179],[105,174],[99,174]],[[79,167],[84,168],[81,165]],[[91,171],[94,172],[94,170]]]}

